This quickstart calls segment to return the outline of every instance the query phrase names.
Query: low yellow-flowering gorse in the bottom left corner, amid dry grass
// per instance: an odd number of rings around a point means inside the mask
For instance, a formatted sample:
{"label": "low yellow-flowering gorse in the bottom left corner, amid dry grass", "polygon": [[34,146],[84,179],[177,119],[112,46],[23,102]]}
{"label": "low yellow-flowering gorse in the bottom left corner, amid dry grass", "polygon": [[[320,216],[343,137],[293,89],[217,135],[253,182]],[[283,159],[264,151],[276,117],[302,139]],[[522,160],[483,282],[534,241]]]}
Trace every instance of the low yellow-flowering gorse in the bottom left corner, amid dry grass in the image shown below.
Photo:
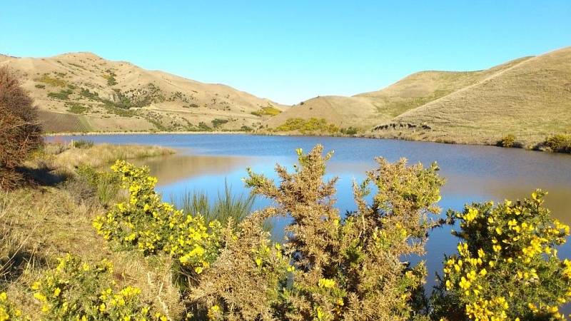
{"label": "low yellow-flowering gorse in the bottom left corner, amid dry grass", "polygon": [[89,265],[70,254],[60,258],[59,265],[31,287],[41,319],[166,321],[139,300],[137,287],[115,289],[112,269],[107,260]]}

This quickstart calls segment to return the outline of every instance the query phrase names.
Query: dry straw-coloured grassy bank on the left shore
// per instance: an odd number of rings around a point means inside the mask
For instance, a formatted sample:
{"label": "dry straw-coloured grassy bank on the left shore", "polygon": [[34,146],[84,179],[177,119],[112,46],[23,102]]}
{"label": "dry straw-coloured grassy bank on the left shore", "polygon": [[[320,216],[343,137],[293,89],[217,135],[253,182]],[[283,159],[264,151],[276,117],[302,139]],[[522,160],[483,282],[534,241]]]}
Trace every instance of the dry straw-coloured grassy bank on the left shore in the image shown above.
{"label": "dry straw-coloured grassy bank on the left shore", "polygon": [[35,185],[0,191],[0,287],[19,302],[24,315],[39,317],[41,305],[31,296],[30,287],[66,253],[90,264],[108,260],[118,286],[140,288],[142,300],[160,307],[163,315],[181,312],[178,287],[168,268],[171,258],[114,252],[92,227],[96,215],[126,196],[109,180],[95,182],[91,175],[96,171],[91,168],[118,158],[170,153],[174,151],[158,146],[47,144],[24,169],[34,175]]}

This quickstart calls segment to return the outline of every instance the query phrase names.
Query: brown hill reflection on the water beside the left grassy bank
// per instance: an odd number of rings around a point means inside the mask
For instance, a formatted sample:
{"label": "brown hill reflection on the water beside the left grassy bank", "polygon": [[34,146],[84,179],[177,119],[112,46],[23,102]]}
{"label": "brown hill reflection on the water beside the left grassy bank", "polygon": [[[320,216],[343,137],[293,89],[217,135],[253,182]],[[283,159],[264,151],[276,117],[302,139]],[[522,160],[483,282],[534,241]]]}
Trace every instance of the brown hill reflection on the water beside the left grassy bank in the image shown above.
{"label": "brown hill reflection on the water beside the left grassy bank", "polygon": [[158,186],[176,183],[201,175],[230,173],[245,169],[254,162],[251,158],[236,156],[186,156],[169,155],[133,161],[146,165],[151,175],[158,178]]}

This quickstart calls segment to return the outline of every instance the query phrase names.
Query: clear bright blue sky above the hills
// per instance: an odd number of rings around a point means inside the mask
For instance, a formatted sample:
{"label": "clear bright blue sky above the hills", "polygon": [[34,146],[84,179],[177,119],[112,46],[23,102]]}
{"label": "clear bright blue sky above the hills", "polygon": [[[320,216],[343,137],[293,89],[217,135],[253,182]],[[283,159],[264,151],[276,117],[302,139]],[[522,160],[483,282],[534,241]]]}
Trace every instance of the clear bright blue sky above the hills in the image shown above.
{"label": "clear bright blue sky above the hills", "polygon": [[571,46],[562,1],[2,0],[0,53],[91,51],[279,103]]}

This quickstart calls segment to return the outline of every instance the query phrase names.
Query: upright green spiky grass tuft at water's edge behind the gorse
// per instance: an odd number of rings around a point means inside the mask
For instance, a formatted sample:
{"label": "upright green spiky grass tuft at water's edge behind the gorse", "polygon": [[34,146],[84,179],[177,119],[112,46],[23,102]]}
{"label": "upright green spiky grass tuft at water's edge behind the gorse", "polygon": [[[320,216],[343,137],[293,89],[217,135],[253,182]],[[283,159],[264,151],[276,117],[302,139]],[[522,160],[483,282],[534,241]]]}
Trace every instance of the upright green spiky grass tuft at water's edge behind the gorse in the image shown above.
{"label": "upright green spiky grass tuft at water's edge behind the gorse", "polygon": [[199,191],[186,192],[176,199],[171,195],[171,203],[178,204],[178,208],[191,215],[203,215],[207,223],[218,220],[227,223],[230,218],[240,222],[251,213],[256,196],[252,194],[232,193],[231,185],[224,181],[223,193],[218,192],[218,199],[211,203],[208,194]]}

